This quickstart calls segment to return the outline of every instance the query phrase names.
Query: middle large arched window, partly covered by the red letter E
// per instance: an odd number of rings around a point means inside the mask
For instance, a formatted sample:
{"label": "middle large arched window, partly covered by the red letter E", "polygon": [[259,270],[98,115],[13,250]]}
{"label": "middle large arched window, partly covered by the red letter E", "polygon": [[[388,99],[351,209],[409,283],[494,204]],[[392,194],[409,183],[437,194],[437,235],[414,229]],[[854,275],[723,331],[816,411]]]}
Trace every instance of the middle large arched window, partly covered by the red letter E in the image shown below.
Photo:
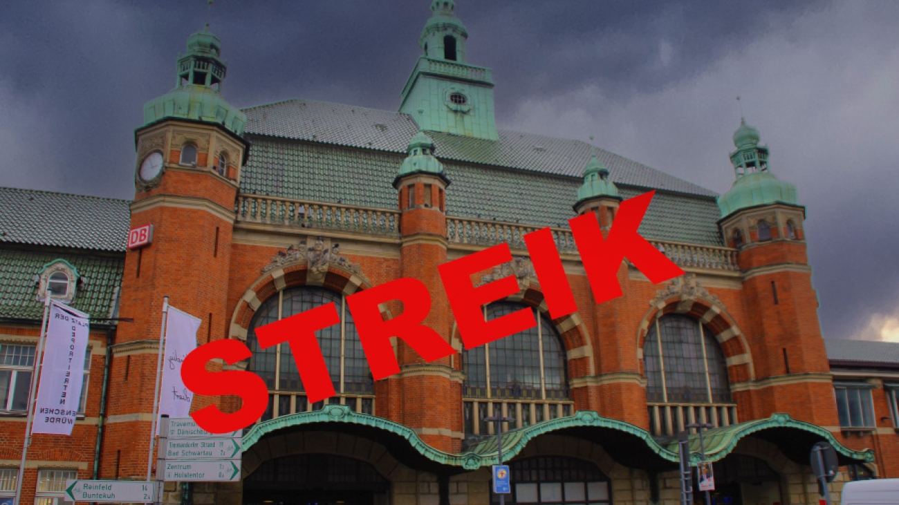
{"label": "middle large arched window, partly covered by the red letter E", "polygon": [[493,426],[482,420],[498,413],[515,418],[510,429],[572,413],[565,347],[553,324],[539,311],[512,302],[487,306],[485,318],[491,321],[522,308],[534,313],[536,326],[462,354],[469,435],[493,433]]}

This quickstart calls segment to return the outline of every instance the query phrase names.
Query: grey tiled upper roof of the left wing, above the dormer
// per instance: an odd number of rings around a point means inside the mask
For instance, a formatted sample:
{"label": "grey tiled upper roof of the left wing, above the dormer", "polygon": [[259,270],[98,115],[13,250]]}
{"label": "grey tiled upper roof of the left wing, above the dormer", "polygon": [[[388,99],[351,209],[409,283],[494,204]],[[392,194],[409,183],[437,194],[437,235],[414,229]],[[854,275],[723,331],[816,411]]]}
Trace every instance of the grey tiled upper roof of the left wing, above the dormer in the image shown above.
{"label": "grey tiled upper roof of the left wing, above the dormer", "polygon": [[0,188],[0,244],[125,251],[129,201]]}

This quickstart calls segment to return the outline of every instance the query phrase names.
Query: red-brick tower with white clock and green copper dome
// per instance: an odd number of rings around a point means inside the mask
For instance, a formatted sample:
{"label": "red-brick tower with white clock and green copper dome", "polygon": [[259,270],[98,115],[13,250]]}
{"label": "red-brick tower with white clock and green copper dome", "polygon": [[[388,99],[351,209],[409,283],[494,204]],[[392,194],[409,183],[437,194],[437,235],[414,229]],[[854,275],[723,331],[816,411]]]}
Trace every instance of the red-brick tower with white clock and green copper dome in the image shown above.
{"label": "red-brick tower with white clock and green copper dome", "polygon": [[175,69],[174,89],[145,104],[144,124],[135,131],[130,226],[151,225],[153,235],[125,256],[120,314],[134,323],[120,326],[112,350],[106,439],[120,458],[103,460],[103,478],[146,476],[153,394],[141,392],[156,381],[163,298],[200,319],[198,344],[227,333],[223,294],[249,148],[246,117],[221,95],[227,64],[209,25],[187,40]]}

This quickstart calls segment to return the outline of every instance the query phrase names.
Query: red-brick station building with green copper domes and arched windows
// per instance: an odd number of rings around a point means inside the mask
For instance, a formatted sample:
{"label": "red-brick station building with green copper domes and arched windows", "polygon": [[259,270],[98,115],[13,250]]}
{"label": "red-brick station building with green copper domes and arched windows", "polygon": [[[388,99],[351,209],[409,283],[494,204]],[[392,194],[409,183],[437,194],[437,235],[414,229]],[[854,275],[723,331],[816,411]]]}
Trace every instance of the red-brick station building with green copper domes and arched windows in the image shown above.
{"label": "red-brick station building with green copper domes and arched windows", "polygon": [[[253,351],[210,366],[250,370],[269,388],[268,410],[245,432],[242,481],[170,483],[167,501],[486,505],[498,501],[490,465],[502,443],[510,503],[674,505],[676,437],[695,423],[710,425],[703,446],[717,503],[817,503],[808,457],[818,441],[844,470],[836,498],[859,468],[899,476],[895,453],[841,430],[806,209],[772,173],[755,128],[734,132],[735,182],[724,195],[580,140],[496,128],[492,71],[467,63],[454,2],[434,0],[431,11],[399,111],[302,99],[238,110],[222,95],[227,65],[207,28],[178,58],[174,89],[145,105],[133,201],[54,195],[58,208],[31,215],[21,208],[47,193],[0,193],[16,198],[0,209],[0,244],[22,258],[0,300],[9,353],[0,381],[33,367],[40,279],[56,271],[49,256],[85,276],[74,306],[106,293],[106,305],[82,309],[100,325],[79,436],[35,438],[30,454],[44,459],[29,464],[26,501],[42,489],[36,481],[58,485],[72,472],[144,478],[165,296],[200,318],[198,343],[235,339]],[[621,202],[650,190],[640,233],[687,274],[654,285],[625,262],[623,295],[597,305],[567,220],[592,213],[607,234]],[[72,203],[83,201],[96,208]],[[40,218],[50,211],[87,231],[53,235],[68,228]],[[125,251],[129,227],[145,225],[152,244]],[[578,306],[558,319],[522,238],[547,226]],[[475,281],[512,277],[520,292],[485,306],[485,317],[524,310],[536,325],[464,349],[437,267],[503,243],[513,260]],[[95,280],[78,255],[115,268]],[[406,277],[428,288],[425,323],[457,352],[427,363],[397,341],[400,373],[375,382],[346,298]],[[255,330],[330,303],[340,323],[318,338],[337,394],[310,403],[289,346],[263,349]],[[235,401],[198,397],[194,408]],[[21,404],[5,406],[3,475],[18,465],[24,425]],[[492,416],[513,419],[501,442]],[[698,455],[695,431],[690,446]]]}

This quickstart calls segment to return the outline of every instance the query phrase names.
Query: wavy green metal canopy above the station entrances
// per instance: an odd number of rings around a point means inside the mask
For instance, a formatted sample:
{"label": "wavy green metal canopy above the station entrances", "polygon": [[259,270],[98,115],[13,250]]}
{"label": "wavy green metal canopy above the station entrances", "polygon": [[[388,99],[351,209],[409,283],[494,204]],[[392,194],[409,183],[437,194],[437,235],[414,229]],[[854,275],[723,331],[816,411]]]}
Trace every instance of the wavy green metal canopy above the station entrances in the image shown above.
{"label": "wavy green metal canopy above the station entrances", "polygon": [[[326,405],[320,411],[291,414],[257,424],[244,436],[244,450],[253,447],[266,435],[280,430],[340,431],[377,439],[395,453],[397,459],[423,469],[462,472],[498,463],[495,437],[485,438],[469,447],[467,452],[450,454],[429,446],[411,428],[369,414],[352,412],[345,405]],[[678,461],[676,442],[664,447],[648,431],[624,421],[601,417],[592,411],[581,411],[573,416],[504,433],[503,460],[519,455],[532,439],[550,433],[598,442],[616,461],[630,467],[667,470],[674,468]],[[841,464],[874,461],[874,451],[853,451],[842,446],[829,431],[807,422],[795,421],[783,413],[774,414],[769,419],[708,430],[704,435],[708,459],[717,461],[724,458],[734,450],[740,439],[750,435],[777,444],[788,457],[802,465],[807,464],[808,450],[821,439],[837,450]],[[699,452],[699,437],[696,435],[690,437],[690,450]]]}

